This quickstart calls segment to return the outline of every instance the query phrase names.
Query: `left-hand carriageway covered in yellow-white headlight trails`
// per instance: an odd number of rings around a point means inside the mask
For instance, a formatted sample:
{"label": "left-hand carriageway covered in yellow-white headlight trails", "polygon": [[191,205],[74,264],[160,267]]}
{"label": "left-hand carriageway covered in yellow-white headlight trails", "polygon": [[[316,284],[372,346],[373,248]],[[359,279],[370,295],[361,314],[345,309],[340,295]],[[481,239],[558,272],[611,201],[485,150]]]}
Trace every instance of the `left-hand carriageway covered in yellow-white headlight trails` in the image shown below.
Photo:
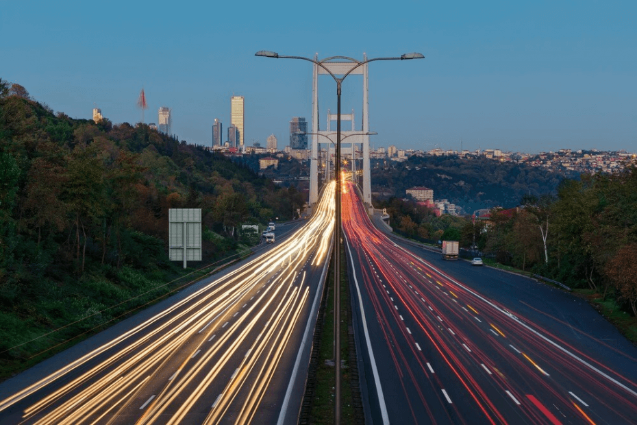
{"label": "left-hand carriageway covered in yellow-white headlight trails", "polygon": [[[0,423],[288,424],[299,411],[334,184],[284,241],[0,401]],[[3,383],[3,392],[19,379]]]}

